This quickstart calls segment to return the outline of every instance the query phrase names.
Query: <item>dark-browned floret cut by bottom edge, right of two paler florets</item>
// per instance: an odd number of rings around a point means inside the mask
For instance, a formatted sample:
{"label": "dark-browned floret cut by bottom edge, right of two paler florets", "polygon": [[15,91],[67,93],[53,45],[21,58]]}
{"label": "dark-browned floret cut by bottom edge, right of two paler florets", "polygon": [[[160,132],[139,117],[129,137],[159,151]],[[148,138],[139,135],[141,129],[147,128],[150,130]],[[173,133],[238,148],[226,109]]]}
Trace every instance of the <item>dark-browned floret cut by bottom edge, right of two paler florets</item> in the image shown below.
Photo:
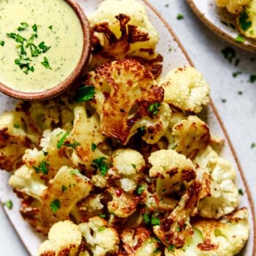
{"label": "dark-browned floret cut by bottom edge, right of two paler florets", "polygon": [[160,251],[157,252],[159,246],[157,240],[151,236],[151,232],[145,227],[137,227],[135,230],[131,228],[125,229],[121,233],[121,241],[123,243],[119,255],[161,255]]}

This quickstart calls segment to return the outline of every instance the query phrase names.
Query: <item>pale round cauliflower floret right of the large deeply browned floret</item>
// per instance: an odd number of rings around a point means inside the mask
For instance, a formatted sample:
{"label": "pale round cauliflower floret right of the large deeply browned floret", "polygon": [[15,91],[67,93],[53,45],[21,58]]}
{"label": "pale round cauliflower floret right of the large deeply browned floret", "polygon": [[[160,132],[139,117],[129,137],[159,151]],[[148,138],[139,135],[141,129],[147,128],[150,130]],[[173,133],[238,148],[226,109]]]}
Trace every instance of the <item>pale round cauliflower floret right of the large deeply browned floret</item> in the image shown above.
{"label": "pale round cauliflower floret right of the large deeply browned floret", "polygon": [[210,102],[210,88],[203,75],[194,67],[178,67],[161,81],[165,102],[184,113],[200,113]]}

